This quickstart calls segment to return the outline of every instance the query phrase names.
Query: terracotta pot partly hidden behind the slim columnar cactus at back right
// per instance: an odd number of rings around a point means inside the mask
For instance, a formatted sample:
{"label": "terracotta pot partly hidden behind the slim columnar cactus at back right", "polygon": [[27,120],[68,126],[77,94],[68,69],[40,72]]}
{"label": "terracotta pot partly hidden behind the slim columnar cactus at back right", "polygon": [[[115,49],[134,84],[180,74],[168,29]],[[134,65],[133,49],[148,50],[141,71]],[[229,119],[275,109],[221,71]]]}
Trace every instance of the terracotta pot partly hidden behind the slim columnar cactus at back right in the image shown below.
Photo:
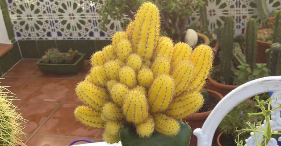
{"label": "terracotta pot partly hidden behind the slim columnar cactus at back right", "polygon": [[[258,30],[263,29],[259,28]],[[246,28],[244,29],[244,36],[246,36]],[[267,63],[265,50],[270,48],[271,42],[257,40],[257,59],[256,63]],[[246,48],[247,49],[247,48]]]}

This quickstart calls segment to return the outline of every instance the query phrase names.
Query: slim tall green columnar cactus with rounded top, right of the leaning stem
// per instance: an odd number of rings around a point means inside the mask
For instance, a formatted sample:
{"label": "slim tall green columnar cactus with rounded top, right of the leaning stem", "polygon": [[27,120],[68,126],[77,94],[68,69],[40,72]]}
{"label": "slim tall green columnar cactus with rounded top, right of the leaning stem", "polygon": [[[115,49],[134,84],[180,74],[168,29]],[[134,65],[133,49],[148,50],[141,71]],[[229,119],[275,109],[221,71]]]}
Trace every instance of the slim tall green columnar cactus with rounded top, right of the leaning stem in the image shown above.
{"label": "slim tall green columnar cactus with rounded top, right of the leaning stem", "polygon": [[257,57],[257,23],[255,19],[249,19],[246,31],[246,63],[253,71]]}

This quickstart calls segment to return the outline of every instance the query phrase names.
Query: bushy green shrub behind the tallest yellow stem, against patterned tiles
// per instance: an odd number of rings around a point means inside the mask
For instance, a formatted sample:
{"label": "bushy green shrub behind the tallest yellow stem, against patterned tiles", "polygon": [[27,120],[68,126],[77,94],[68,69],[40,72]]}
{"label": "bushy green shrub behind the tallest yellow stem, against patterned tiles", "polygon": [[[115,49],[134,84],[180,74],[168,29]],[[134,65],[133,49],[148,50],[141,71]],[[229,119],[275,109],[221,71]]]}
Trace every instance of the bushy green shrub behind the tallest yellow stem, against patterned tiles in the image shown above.
{"label": "bushy green shrub behind the tallest yellow stem, against patterned tiles", "polygon": [[[99,0],[91,1],[99,2]],[[110,23],[109,18],[128,23],[128,21],[123,20],[124,16],[133,20],[134,13],[145,1],[151,1],[158,6],[161,12],[161,28],[165,30],[164,34],[167,34],[176,42],[184,40],[190,14],[204,4],[203,0],[106,0],[99,10],[101,16],[100,28],[106,30],[106,26]]]}

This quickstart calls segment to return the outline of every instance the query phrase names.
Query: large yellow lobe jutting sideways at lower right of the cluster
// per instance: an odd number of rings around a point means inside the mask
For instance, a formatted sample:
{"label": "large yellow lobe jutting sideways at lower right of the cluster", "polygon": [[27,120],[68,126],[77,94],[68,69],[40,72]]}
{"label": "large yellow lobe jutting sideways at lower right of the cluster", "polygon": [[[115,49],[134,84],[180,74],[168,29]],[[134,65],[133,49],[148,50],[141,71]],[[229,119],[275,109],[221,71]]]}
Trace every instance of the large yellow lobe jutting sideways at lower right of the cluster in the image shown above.
{"label": "large yellow lobe jutting sideways at lower right of the cluster", "polygon": [[203,105],[200,92],[185,93],[174,99],[165,114],[176,119],[182,119],[196,112]]}

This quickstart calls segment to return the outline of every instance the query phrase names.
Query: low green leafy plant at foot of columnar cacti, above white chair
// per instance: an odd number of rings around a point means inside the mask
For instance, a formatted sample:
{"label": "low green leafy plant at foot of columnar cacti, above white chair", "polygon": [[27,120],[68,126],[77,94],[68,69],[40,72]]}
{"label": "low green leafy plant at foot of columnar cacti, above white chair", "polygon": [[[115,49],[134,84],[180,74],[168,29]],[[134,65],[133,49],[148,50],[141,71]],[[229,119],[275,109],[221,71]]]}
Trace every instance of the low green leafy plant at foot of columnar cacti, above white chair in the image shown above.
{"label": "low green leafy plant at foot of columnar cacti, above white chair", "polygon": [[234,72],[235,77],[233,79],[233,84],[235,85],[242,85],[248,81],[268,76],[269,74],[269,69],[265,63],[256,63],[253,71],[248,64],[239,65],[237,68],[238,70]]}

